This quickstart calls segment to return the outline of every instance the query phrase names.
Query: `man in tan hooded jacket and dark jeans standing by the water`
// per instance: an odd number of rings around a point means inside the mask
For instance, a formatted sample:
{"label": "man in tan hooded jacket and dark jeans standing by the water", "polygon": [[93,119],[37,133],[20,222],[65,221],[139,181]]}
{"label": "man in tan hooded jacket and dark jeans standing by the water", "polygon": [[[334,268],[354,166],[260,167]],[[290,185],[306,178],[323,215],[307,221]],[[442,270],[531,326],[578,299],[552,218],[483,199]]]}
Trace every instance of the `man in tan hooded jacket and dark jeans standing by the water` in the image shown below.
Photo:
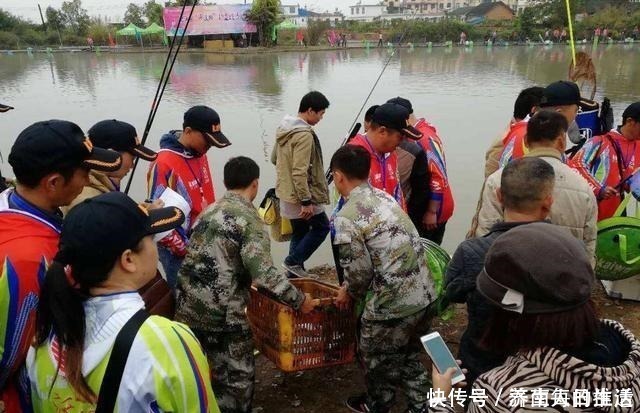
{"label": "man in tan hooded jacket and dark jeans standing by the water", "polygon": [[313,130],[328,107],[329,100],[322,93],[309,92],[300,101],[298,115],[286,115],[276,131],[271,162],[276,165],[280,212],[293,227],[284,260],[290,277],[308,277],[304,263],[329,234],[323,206],[329,204],[329,186],[320,140]]}

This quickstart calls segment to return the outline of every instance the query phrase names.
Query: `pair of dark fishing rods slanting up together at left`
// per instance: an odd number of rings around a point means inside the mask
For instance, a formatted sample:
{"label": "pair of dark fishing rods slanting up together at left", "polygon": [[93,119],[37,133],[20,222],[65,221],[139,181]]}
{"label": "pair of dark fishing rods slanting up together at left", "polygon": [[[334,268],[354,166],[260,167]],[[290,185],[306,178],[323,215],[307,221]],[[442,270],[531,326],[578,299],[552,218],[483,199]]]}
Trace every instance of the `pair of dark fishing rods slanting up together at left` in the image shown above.
{"label": "pair of dark fishing rods slanting up together at left", "polygon": [[[162,74],[160,75],[160,82],[158,82],[158,87],[156,88],[156,94],[153,97],[153,101],[151,103],[151,110],[149,111],[149,117],[147,118],[147,124],[145,125],[144,132],[142,134],[142,140],[140,144],[144,145],[147,142],[147,138],[149,137],[149,131],[151,130],[151,125],[156,118],[156,113],[158,112],[158,108],[160,107],[160,102],[162,101],[162,96],[164,95],[164,91],[167,88],[167,83],[169,83],[169,76],[171,75],[171,71],[173,70],[173,65],[176,62],[178,54],[180,53],[180,48],[182,47],[182,41],[184,40],[184,36],[187,34],[187,28],[189,27],[189,22],[191,21],[191,16],[193,15],[193,10],[196,8],[198,4],[198,0],[194,0],[193,5],[191,6],[191,11],[189,11],[189,17],[187,17],[187,21],[185,22],[184,28],[182,29],[182,34],[180,35],[180,40],[178,41],[178,46],[173,54],[173,59],[171,58],[171,54],[173,53],[174,45],[176,42],[176,38],[178,37],[178,30],[180,29],[180,23],[182,22],[182,17],[184,16],[184,11],[187,7],[187,2],[182,5],[182,10],[180,11],[180,17],[178,18],[178,25],[176,27],[176,31],[174,32],[173,38],[171,39],[171,45],[169,46],[169,52],[167,53],[167,59],[164,62],[164,67],[162,69]],[[171,60],[171,64],[169,65],[169,60]],[[167,67],[169,70],[167,70]],[[136,158],[133,163],[133,168],[131,169],[131,174],[129,175],[129,180],[127,181],[127,186],[124,190],[125,194],[129,194],[129,190],[131,189],[131,184],[133,183],[133,176],[136,173],[136,169],[138,167],[138,161],[140,158]]]}

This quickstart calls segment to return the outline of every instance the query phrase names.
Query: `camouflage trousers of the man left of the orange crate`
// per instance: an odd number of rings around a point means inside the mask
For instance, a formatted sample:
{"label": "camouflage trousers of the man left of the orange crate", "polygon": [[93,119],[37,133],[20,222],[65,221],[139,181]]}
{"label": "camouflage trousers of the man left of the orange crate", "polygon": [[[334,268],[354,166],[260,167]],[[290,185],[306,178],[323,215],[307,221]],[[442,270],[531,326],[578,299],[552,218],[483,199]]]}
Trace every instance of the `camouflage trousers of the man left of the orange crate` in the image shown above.
{"label": "camouflage trousers of the man left of the orange crate", "polygon": [[211,387],[221,413],[250,413],[255,386],[251,331],[194,329],[211,367]]}

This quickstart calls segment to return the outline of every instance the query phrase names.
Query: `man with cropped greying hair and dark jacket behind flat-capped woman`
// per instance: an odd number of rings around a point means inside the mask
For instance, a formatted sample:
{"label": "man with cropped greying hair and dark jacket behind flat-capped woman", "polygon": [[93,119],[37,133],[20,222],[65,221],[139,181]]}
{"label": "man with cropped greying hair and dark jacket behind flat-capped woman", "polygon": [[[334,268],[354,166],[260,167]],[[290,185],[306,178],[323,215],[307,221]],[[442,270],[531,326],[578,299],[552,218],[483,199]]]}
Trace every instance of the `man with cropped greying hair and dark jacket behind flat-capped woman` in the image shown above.
{"label": "man with cropped greying hair and dark jacket behind flat-capped woman", "polygon": [[466,303],[467,329],[460,339],[458,353],[466,374],[467,395],[478,376],[501,365],[506,356],[479,346],[485,333],[491,306],[476,290],[476,279],[484,267],[484,259],[491,244],[512,228],[547,218],[553,204],[555,174],[553,167],[540,158],[514,159],[504,168],[498,189],[498,199],[504,209],[504,222],[479,238],[464,241],[456,249],[447,267],[447,298]]}

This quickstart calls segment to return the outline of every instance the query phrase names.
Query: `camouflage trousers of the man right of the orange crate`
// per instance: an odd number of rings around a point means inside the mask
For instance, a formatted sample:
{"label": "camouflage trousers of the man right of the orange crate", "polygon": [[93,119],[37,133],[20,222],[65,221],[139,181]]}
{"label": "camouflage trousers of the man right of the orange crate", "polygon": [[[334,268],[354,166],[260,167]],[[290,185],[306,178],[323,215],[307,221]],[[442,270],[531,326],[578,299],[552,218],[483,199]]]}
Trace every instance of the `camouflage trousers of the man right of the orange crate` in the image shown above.
{"label": "camouflage trousers of the man right of the orange crate", "polygon": [[401,387],[410,412],[425,411],[430,382],[420,362],[418,335],[427,330],[425,311],[408,317],[361,319],[359,350],[365,368],[367,404],[372,413],[387,413]]}

